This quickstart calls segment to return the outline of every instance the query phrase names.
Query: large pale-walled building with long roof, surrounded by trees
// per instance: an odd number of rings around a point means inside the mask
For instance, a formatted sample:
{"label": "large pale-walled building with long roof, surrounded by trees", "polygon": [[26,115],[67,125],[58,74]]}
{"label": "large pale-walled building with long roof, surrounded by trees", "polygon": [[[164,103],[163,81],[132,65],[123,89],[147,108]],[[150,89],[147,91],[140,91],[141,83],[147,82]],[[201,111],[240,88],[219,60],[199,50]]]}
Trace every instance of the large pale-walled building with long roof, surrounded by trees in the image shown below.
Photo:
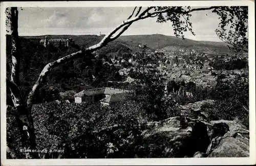
{"label": "large pale-walled building with long roof, surrounded by trees", "polygon": [[129,91],[109,87],[85,89],[74,95],[75,103],[94,103],[100,101],[102,105],[112,105],[123,101],[126,92]]}

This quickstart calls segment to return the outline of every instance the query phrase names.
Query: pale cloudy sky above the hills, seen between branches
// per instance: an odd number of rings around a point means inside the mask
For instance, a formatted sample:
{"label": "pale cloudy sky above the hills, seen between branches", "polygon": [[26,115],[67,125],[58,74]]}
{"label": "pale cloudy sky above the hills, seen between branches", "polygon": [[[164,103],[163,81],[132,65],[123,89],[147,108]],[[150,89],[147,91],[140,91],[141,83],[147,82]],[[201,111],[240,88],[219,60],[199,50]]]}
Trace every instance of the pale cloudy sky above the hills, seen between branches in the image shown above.
{"label": "pale cloudy sky above the hills, seen between branches", "polygon": [[[20,36],[38,35],[99,35],[106,34],[127,19],[132,7],[59,7],[23,8],[19,10],[18,32]],[[218,15],[211,11],[191,12],[193,25],[185,38],[199,41],[221,41],[215,33]],[[123,35],[163,34],[174,36],[172,23],[158,23],[156,18],[134,22]]]}

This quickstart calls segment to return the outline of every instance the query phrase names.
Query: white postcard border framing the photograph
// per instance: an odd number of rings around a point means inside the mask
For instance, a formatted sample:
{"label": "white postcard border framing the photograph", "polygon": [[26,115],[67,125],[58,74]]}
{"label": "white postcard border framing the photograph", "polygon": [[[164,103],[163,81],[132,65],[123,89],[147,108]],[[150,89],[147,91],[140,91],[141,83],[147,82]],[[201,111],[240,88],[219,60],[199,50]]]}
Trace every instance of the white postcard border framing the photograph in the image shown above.
{"label": "white postcard border framing the photograph", "polygon": [[[6,159],[6,27],[5,8],[18,7],[133,7],[133,6],[248,6],[250,157],[150,159]],[[252,1],[122,1],[122,2],[1,2],[1,165],[220,165],[255,164],[255,20]]]}

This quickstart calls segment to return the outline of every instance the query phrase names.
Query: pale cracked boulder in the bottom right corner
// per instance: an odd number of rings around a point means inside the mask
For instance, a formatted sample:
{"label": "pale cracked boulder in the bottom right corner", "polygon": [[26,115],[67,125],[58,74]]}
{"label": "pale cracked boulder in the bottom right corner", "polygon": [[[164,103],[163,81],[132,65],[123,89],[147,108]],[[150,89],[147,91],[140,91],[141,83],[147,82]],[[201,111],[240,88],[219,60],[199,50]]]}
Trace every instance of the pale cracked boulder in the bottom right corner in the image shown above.
{"label": "pale cracked boulder in the bottom right corner", "polygon": [[216,137],[207,148],[208,157],[249,157],[249,131],[244,125],[226,120],[211,121],[210,124],[216,127]]}

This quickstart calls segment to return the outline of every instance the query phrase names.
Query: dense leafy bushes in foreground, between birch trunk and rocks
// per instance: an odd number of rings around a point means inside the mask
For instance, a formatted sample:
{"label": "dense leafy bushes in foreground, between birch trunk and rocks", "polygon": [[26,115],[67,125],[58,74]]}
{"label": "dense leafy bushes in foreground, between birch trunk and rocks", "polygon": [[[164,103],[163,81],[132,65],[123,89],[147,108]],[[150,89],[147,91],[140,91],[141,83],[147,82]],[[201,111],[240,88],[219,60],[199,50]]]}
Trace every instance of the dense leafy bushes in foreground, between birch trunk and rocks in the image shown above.
{"label": "dense leafy bushes in foreground, between birch trunk and rocks", "polygon": [[[131,107],[133,106],[133,107]],[[99,104],[56,104],[34,109],[38,148],[66,144],[66,158],[134,157],[139,144],[136,103],[127,107],[101,108]]]}

